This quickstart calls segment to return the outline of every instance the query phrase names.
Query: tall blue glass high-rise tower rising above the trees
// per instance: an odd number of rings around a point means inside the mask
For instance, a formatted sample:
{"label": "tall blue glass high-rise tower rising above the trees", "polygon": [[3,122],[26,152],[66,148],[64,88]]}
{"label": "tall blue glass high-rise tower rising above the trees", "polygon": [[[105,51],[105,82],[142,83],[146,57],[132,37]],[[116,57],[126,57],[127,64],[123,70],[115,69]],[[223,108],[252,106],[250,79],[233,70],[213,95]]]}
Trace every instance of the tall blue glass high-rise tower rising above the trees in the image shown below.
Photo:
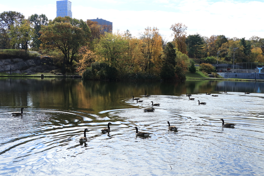
{"label": "tall blue glass high-rise tower rising above the trees", "polygon": [[69,16],[72,18],[72,2],[68,0],[57,1],[57,16],[65,17]]}

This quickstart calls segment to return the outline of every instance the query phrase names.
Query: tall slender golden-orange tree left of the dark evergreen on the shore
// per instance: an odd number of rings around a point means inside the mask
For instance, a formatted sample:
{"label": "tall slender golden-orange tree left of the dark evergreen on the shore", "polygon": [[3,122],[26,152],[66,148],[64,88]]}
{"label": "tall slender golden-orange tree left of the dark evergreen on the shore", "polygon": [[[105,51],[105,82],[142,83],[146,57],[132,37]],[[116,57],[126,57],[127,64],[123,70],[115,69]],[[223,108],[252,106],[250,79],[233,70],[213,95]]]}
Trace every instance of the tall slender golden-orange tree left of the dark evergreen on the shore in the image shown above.
{"label": "tall slender golden-orange tree left of the dark evergreen on the shore", "polygon": [[[154,66],[161,64],[162,37],[157,27],[147,27],[144,33],[140,34],[140,40],[142,40],[141,53],[144,58],[143,69],[150,73]],[[159,72],[159,67],[152,71]]]}

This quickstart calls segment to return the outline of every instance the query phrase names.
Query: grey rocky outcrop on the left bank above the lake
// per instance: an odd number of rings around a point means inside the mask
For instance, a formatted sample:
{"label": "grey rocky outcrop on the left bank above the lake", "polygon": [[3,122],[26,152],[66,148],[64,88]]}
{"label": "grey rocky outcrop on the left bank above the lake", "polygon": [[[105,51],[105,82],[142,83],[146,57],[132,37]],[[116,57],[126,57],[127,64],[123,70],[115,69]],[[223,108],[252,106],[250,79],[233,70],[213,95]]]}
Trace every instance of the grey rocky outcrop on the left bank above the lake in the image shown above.
{"label": "grey rocky outcrop on the left bank above the lake", "polygon": [[53,65],[52,59],[48,56],[40,57],[37,56],[34,59],[29,59],[24,61],[23,59],[1,59],[0,60],[0,72],[10,73],[10,64],[11,64],[11,73],[48,73],[52,70],[58,69]]}

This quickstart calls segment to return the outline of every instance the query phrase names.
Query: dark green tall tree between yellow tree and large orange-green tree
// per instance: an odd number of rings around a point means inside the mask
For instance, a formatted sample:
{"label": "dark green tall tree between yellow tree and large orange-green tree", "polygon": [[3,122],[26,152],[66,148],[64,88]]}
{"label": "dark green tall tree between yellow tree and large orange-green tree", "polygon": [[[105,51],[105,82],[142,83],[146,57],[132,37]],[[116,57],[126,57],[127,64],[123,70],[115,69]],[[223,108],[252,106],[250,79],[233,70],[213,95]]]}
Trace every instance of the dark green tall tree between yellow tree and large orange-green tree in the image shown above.
{"label": "dark green tall tree between yellow tree and large orange-green tree", "polygon": [[48,25],[48,18],[46,15],[41,14],[41,15],[31,15],[28,20],[31,22],[31,27],[33,28],[32,30],[32,43],[31,47],[39,48],[41,41],[40,41],[40,30],[41,26],[47,26]]}

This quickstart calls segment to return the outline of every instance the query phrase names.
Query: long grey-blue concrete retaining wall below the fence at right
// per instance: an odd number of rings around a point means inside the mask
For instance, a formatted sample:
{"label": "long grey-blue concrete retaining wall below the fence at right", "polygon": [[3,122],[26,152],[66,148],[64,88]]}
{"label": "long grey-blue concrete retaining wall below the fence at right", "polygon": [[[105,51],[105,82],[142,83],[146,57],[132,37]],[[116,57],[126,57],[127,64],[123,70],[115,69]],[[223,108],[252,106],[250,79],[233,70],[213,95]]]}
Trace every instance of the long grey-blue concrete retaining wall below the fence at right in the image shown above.
{"label": "long grey-blue concrete retaining wall below the fence at right", "polygon": [[[224,78],[237,78],[237,79],[255,79],[255,73],[221,73],[217,72]],[[264,73],[256,73],[256,79],[264,79]]]}

